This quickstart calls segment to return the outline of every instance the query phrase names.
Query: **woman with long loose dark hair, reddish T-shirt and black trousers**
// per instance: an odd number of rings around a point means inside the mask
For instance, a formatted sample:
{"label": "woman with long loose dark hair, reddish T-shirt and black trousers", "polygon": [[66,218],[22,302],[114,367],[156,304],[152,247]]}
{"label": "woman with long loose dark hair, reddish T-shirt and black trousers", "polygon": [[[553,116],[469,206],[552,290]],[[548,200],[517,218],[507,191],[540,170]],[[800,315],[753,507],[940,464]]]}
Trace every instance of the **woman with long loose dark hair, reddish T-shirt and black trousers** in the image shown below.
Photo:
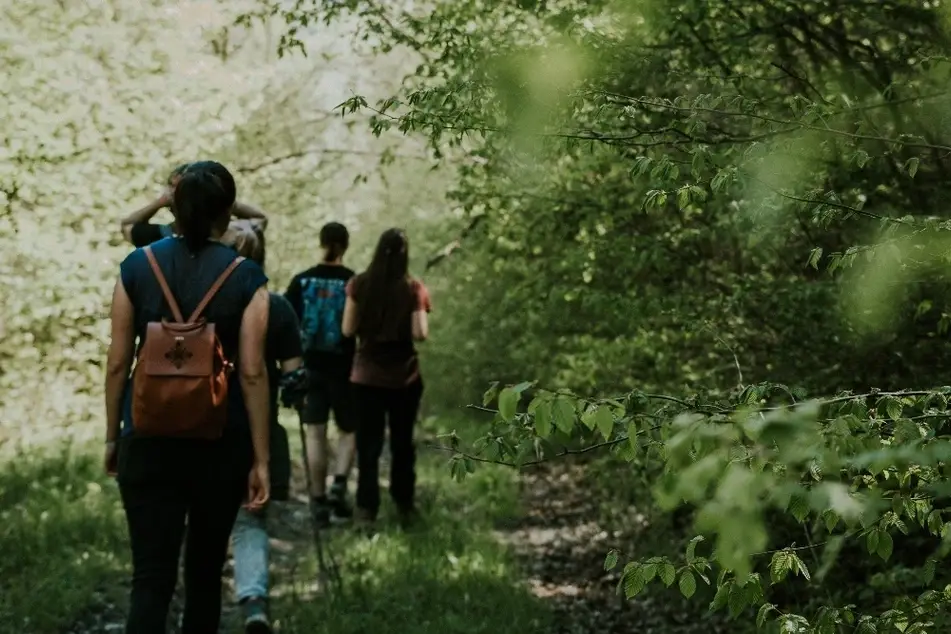
{"label": "woman with long loose dark hair, reddish T-shirt and black trousers", "polygon": [[343,334],[357,337],[350,381],[357,407],[355,519],[376,520],[379,463],[390,430],[390,497],[405,524],[415,519],[414,429],[423,380],[414,342],[429,336],[429,291],[409,275],[409,242],[400,229],[380,236],[373,261],[347,285]]}

